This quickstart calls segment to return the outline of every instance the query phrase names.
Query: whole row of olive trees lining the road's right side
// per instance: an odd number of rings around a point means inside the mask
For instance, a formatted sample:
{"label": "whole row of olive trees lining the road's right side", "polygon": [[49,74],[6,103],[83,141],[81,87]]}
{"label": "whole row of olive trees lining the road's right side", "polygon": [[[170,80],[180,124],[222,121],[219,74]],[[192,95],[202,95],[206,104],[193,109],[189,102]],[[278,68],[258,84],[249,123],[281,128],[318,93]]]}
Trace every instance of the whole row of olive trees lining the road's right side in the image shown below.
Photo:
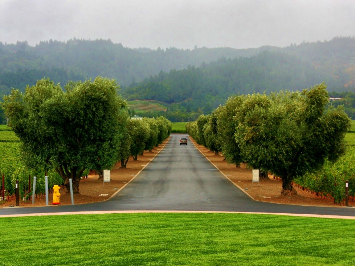
{"label": "whole row of olive trees lining the road's right side", "polygon": [[211,115],[186,124],[200,145],[282,178],[282,195],[296,194],[292,181],[334,162],[345,152],[349,117],[342,106],[326,110],[324,83],[302,92],[230,96]]}

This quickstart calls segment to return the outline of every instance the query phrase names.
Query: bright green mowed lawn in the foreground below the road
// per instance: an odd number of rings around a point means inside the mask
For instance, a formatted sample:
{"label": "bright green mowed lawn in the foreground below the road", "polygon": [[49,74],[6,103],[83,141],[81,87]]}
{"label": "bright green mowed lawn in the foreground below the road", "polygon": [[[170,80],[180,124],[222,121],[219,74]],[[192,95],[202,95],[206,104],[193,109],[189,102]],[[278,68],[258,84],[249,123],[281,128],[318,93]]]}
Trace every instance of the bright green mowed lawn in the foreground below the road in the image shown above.
{"label": "bright green mowed lawn in the foreground below the road", "polygon": [[354,265],[355,221],[249,214],[0,218],[0,265]]}

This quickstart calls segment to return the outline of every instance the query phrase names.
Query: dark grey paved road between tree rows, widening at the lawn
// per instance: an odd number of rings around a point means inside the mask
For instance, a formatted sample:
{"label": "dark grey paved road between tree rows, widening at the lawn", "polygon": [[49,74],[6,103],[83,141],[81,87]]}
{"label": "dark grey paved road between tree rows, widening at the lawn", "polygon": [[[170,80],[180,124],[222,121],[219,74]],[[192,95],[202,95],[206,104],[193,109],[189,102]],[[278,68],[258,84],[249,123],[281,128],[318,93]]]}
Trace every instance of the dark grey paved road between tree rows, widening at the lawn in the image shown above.
{"label": "dark grey paved road between tree rows, widening at the lawn", "polygon": [[228,181],[196,148],[173,134],[164,149],[113,199],[92,204],[0,209],[1,215],[110,210],[243,211],[355,216],[355,208],[254,201]]}

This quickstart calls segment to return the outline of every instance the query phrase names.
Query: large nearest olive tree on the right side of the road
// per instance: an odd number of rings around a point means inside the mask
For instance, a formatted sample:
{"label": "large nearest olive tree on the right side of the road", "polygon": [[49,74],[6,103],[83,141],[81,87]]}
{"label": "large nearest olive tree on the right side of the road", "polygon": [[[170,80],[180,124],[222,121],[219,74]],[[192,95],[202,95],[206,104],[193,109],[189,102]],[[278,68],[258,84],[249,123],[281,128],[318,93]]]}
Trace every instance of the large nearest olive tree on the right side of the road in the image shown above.
{"label": "large nearest olive tree on the right side of the road", "polygon": [[242,160],[282,178],[282,195],[296,191],[293,178],[319,169],[344,152],[350,120],[342,107],[325,111],[324,84],[300,92],[246,96],[235,114],[235,142]]}

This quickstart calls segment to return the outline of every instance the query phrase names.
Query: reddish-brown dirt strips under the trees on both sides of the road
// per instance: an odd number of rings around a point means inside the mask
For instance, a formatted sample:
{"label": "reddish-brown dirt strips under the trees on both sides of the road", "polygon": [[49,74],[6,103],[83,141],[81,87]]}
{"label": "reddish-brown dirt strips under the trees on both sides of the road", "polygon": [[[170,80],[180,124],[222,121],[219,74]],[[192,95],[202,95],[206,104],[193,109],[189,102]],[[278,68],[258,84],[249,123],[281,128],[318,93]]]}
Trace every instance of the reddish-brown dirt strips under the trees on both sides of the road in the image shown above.
{"label": "reddish-brown dirt strips under the trees on both sides of the road", "polygon": [[[96,201],[103,201],[109,199],[120,188],[130,182],[142,168],[147,165],[153,158],[159,153],[168,140],[152,149],[152,152],[144,151],[143,155],[138,156],[137,161],[133,161],[130,157],[126,168],[121,168],[120,164],[114,166],[110,173],[111,183],[103,183],[102,179],[98,179],[98,175],[89,175],[87,179],[82,179],[79,184],[80,193],[74,194],[75,204],[92,203]],[[230,179],[236,186],[238,186],[245,193],[250,195],[255,200],[281,203],[281,204],[296,204],[296,205],[311,205],[311,206],[332,206],[339,207],[331,200],[317,197],[315,194],[311,194],[301,188],[295,188],[298,195],[296,196],[281,196],[282,182],[276,179],[267,178],[260,179],[259,184],[252,183],[252,170],[245,167],[237,168],[235,165],[228,164],[223,156],[215,155],[209,149],[204,148],[201,145],[197,145],[196,142],[191,139],[191,142],[195,144],[196,148],[206,156],[206,158],[214,164],[220,172],[222,172],[226,178]],[[60,204],[70,205],[71,198],[70,193],[66,189],[60,190]],[[49,205],[52,204],[53,194],[49,194]],[[2,202],[0,201],[0,207],[15,206],[15,196],[13,198]],[[32,206],[44,206],[45,196],[37,196],[35,198],[34,205],[32,200],[20,201],[21,207]]]}

